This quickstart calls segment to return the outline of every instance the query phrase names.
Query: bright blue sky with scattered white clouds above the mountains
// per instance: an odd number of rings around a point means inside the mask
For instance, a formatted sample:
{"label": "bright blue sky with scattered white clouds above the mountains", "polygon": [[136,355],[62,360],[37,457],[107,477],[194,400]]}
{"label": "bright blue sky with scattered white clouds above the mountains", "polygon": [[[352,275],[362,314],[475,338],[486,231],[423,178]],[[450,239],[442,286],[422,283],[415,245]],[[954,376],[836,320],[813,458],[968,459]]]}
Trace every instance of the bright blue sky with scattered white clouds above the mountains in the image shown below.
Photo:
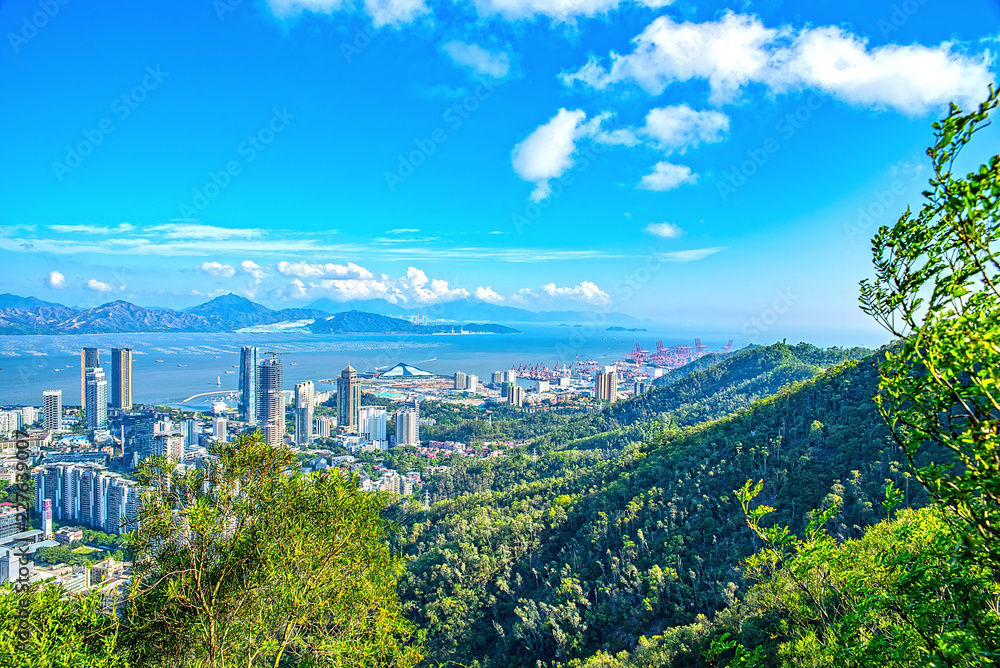
{"label": "bright blue sky with scattered white clouds above the mountains", "polygon": [[995,78],[997,4],[953,7],[8,0],[0,291],[878,340],[868,239]]}

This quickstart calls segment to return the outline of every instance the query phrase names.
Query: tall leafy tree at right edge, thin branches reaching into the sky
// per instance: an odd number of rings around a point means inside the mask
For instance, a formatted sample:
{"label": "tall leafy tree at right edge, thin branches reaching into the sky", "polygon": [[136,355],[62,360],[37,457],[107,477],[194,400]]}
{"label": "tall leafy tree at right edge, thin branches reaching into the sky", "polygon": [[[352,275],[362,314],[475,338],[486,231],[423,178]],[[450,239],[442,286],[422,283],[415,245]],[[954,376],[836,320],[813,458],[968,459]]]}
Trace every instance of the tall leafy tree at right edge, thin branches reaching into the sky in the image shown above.
{"label": "tall leafy tree at right edge, thin branches reaching into the sky", "polygon": [[1000,576],[1000,156],[955,172],[998,104],[991,89],[978,110],[953,104],[934,124],[926,204],[879,229],[861,306],[900,339],[881,368],[880,411],[917,479],[968,523],[966,555]]}

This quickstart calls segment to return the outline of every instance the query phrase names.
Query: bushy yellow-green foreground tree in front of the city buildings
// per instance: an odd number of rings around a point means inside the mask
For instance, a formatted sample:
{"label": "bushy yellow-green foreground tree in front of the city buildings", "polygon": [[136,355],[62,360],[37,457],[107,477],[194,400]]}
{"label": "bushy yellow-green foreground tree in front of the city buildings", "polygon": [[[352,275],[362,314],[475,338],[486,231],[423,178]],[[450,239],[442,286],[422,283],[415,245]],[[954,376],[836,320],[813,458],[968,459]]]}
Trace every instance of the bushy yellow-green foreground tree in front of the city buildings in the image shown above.
{"label": "bushy yellow-green foreground tree in front of the city buildings", "polygon": [[381,497],[336,472],[297,473],[260,432],[204,469],[147,460],[127,606],[143,666],[412,666],[401,563]]}

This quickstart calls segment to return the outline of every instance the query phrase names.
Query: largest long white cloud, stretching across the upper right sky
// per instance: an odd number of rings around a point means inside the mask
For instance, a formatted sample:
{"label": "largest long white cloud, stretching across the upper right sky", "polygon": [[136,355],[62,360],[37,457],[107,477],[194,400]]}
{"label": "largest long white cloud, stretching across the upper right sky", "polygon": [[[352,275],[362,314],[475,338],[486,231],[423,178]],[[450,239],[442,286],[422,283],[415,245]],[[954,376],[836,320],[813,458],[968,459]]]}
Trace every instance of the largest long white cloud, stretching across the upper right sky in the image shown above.
{"label": "largest long white cloud, stretching across the upper right sky", "polygon": [[702,79],[715,104],[734,101],[755,83],[773,93],[811,88],[858,106],[917,114],[951,100],[975,104],[993,79],[988,52],[967,56],[948,42],[869,48],[838,27],[769,28],[733,12],[705,23],[660,16],[633,42],[631,53],[611,52],[607,66],[591,59],[563,73],[564,83],[603,90],[633,82],[659,95],[674,82]]}

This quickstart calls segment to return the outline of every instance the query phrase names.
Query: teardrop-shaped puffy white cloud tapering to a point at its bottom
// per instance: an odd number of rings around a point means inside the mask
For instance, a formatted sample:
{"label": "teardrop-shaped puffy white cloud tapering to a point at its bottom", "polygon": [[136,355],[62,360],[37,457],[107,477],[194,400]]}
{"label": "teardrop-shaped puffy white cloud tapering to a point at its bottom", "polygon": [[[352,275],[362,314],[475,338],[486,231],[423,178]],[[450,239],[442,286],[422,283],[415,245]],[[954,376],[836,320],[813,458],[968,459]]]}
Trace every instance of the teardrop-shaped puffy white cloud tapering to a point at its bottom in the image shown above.
{"label": "teardrop-shaped puffy white cloud tapering to a point at its bottom", "polygon": [[576,140],[582,136],[581,124],[587,114],[579,109],[560,109],[549,122],[537,127],[511,152],[514,171],[536,185],[531,199],[540,202],[552,192],[549,180],[559,178],[573,166]]}

